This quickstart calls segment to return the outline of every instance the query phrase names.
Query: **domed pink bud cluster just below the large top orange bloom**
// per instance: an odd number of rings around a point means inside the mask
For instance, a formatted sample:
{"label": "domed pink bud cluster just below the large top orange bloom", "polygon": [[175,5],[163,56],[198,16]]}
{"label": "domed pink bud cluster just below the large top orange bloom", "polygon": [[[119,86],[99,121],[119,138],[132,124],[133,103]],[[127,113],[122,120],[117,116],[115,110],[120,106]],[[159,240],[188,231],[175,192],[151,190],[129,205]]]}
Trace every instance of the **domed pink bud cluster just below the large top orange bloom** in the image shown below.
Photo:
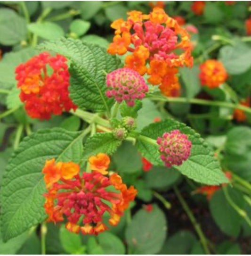
{"label": "domed pink bud cluster just below the large top orange bloom", "polygon": [[130,68],[119,68],[107,74],[106,86],[108,98],[113,97],[119,103],[125,100],[130,107],[134,106],[135,99],[143,99],[148,91],[142,76]]}

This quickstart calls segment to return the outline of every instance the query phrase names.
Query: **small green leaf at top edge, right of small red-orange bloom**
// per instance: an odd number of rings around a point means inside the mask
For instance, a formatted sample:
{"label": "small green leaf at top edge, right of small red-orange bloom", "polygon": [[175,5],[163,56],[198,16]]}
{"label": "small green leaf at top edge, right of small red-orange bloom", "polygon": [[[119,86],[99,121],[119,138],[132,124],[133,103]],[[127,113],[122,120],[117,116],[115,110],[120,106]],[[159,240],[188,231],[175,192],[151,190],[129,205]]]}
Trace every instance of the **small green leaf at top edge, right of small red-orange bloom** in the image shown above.
{"label": "small green leaf at top edge, right of small red-orange bloom", "polygon": [[218,7],[217,2],[208,2],[205,5],[204,17],[207,22],[215,24],[223,20],[224,13]]}

